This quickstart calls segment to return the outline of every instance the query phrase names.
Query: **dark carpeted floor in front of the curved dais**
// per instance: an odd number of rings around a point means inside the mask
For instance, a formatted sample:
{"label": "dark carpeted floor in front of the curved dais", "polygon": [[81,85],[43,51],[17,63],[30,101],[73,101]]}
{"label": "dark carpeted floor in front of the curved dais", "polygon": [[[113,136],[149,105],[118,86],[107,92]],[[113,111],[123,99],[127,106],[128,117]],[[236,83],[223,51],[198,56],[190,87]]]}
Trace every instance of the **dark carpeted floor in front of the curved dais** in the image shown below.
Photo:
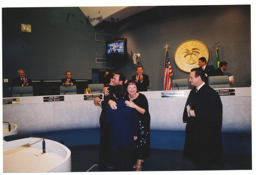
{"label": "dark carpeted floor in front of the curved dais", "polygon": [[[98,172],[99,145],[68,147],[71,151],[72,172]],[[142,171],[193,171],[190,161],[183,159],[183,151],[151,149]],[[224,155],[225,166],[213,170],[252,170],[252,156]]]}

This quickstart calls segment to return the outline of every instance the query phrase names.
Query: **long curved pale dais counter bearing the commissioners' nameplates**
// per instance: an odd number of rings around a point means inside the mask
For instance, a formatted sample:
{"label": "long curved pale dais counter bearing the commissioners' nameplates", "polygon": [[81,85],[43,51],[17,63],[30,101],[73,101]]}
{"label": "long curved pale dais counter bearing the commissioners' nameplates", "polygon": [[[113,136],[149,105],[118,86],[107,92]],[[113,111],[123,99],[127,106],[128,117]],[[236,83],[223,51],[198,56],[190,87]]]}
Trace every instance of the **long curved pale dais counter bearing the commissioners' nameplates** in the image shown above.
{"label": "long curved pale dais counter bearing the commissioners' nameplates", "polygon": [[[222,132],[251,133],[252,97],[251,87],[228,88],[233,95],[221,96],[223,104]],[[220,89],[225,93],[228,89]],[[218,90],[218,89],[215,89]],[[185,131],[182,122],[184,105],[190,90],[142,92],[148,99],[151,130]],[[163,93],[173,93],[163,97]],[[56,101],[49,96],[19,97],[20,102],[3,105],[3,120],[16,123],[19,133],[43,133],[65,130],[99,128],[100,106],[93,98],[85,100],[84,94],[57,95]],[[8,101],[4,98],[3,102]],[[23,112],[19,112],[23,109]]]}

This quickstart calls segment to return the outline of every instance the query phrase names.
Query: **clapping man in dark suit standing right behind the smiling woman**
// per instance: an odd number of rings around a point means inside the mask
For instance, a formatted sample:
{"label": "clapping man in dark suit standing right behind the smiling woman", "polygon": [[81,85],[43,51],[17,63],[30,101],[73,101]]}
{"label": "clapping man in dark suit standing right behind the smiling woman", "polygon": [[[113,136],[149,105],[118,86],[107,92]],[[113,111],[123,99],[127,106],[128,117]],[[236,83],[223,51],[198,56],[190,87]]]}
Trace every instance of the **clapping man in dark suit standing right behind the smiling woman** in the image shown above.
{"label": "clapping man in dark suit standing right behind the smiling woman", "polygon": [[148,91],[148,86],[150,84],[148,75],[143,74],[143,67],[138,66],[137,67],[137,75],[132,76],[132,80],[135,80],[137,91]]}

